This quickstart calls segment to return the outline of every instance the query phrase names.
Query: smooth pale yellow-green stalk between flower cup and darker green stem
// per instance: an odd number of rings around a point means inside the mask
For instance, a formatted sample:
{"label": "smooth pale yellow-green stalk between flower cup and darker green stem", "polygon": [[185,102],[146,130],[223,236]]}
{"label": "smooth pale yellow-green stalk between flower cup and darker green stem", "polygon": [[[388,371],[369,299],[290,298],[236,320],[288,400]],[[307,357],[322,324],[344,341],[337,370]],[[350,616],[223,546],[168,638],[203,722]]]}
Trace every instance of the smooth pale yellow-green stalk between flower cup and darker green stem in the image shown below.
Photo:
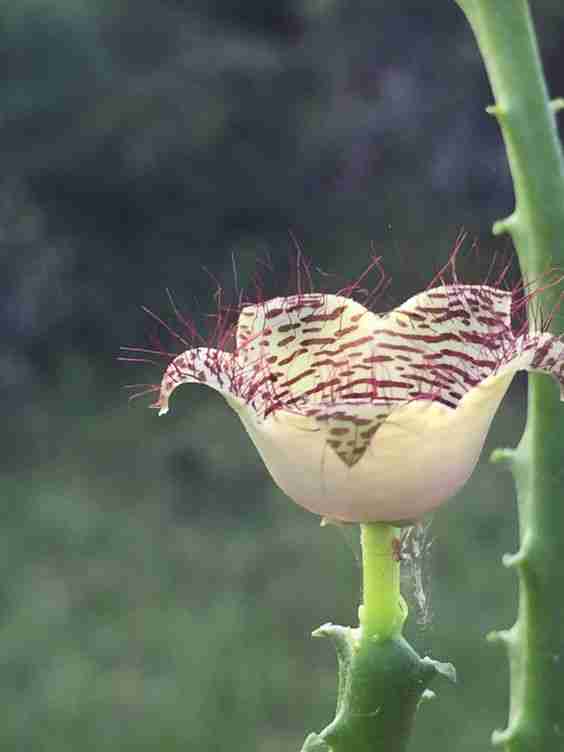
{"label": "smooth pale yellow-green stalk between flower cup and darker green stem", "polygon": [[362,637],[387,640],[401,633],[407,615],[400,593],[400,563],[395,552],[398,530],[373,522],[361,525],[363,603]]}

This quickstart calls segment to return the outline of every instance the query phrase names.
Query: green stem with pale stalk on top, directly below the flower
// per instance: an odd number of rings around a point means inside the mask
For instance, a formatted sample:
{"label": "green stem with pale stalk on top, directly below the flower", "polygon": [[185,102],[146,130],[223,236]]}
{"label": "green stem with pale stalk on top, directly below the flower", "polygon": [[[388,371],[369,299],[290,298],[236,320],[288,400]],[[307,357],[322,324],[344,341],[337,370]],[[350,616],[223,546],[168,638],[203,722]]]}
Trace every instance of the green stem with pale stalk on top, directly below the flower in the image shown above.
{"label": "green stem with pale stalk on top, directly below the flower", "polygon": [[401,636],[407,609],[400,594],[397,530],[361,526],[363,604],[356,629],[325,624],[313,634],[333,640],[339,661],[335,719],[310,734],[302,752],[405,752],[420,702],[450,664],[420,658]]}

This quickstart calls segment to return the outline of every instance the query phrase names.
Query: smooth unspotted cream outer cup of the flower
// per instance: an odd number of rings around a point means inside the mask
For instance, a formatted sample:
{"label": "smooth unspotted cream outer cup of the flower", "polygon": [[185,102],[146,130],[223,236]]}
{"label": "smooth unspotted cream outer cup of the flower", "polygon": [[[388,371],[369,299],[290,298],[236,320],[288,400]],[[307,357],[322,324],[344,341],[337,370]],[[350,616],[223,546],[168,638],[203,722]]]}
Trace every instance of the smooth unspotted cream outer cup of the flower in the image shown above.
{"label": "smooth unspotted cream outer cup of the flower", "polygon": [[[328,449],[328,432],[315,419],[239,415],[276,483],[301,506],[347,522],[413,520],[466,482],[511,379],[492,377],[456,410],[424,400],[398,407],[352,467]],[[365,418],[370,409],[364,406]]]}

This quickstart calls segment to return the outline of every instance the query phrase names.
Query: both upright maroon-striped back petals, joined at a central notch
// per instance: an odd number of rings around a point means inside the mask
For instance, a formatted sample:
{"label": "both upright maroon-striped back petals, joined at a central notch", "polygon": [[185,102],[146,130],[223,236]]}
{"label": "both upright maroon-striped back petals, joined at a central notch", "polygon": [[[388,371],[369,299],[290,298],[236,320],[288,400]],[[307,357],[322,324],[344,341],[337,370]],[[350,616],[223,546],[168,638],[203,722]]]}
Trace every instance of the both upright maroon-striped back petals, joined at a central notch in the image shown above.
{"label": "both upright maroon-striped back petals, joined at a central notch", "polygon": [[237,358],[263,417],[357,400],[383,412],[413,399],[456,407],[495,372],[513,342],[511,293],[437,287],[383,316],[335,295],[275,298],[244,308]]}

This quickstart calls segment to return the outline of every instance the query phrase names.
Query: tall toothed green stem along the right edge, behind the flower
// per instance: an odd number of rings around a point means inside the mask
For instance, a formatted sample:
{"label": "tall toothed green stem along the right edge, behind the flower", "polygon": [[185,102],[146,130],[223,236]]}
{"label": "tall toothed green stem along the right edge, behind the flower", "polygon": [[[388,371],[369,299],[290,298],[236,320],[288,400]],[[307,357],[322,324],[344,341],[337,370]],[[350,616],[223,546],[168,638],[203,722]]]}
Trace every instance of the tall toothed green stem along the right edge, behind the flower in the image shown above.
{"label": "tall toothed green stem along the right edge, behind the flower", "polygon": [[[484,58],[495,96],[488,111],[513,177],[515,210],[494,233],[511,234],[525,280],[552,312],[560,289],[541,288],[547,272],[564,270],[564,158],[528,4],[457,2]],[[564,330],[562,314],[552,328]],[[504,560],[519,574],[519,613],[494,635],[507,645],[511,669],[509,723],[494,742],[507,752],[552,752],[564,748],[564,409],[548,377],[530,377],[525,434],[497,459],[509,463],[517,485],[521,546]]]}

